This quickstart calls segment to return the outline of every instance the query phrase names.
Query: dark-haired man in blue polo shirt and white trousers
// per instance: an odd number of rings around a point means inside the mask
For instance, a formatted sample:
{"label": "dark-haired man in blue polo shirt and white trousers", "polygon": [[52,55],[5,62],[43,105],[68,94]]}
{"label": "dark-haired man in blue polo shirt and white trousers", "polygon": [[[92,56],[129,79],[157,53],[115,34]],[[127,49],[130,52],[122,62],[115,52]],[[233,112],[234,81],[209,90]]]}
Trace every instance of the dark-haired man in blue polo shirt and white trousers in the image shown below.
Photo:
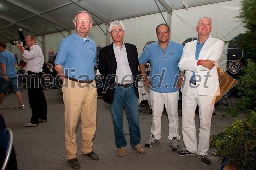
{"label": "dark-haired man in blue polo shirt and white trousers", "polygon": [[[146,147],[152,147],[161,138],[161,117],[164,105],[169,119],[169,140],[171,149],[178,150],[179,144],[179,119],[178,100],[179,89],[183,79],[179,78],[178,63],[183,46],[169,40],[170,28],[160,24],[156,28],[158,41],[148,45],[139,58],[139,68],[147,87],[150,88],[152,108],[152,126],[150,139]],[[150,62],[150,77],[146,76],[146,62]]]}

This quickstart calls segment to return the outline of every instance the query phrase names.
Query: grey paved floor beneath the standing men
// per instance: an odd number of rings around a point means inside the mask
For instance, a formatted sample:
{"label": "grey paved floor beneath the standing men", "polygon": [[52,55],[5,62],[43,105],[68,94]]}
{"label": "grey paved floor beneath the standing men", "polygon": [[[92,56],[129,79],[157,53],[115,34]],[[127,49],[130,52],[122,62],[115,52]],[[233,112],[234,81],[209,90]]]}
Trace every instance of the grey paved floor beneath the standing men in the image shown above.
{"label": "grey paved floor beneath the standing men", "polygon": [[[3,102],[3,109],[0,113],[4,116],[7,127],[13,131],[14,148],[17,154],[18,168],[25,169],[72,169],[65,156],[64,125],[63,125],[63,103],[58,98],[58,89],[44,91],[48,104],[48,122],[40,123],[37,127],[24,127],[31,117],[31,110],[28,103],[28,94],[25,89],[23,94],[26,109],[15,110],[17,105],[15,95],[7,95]],[[223,100],[224,102],[224,100]],[[143,108],[142,108],[143,109]],[[216,107],[216,115],[212,118],[211,134],[222,131],[225,126],[231,125],[233,119],[222,118],[228,112],[228,107],[219,104]],[[124,111],[125,116],[125,111]],[[180,148],[183,148],[181,134],[180,116],[179,132],[181,136]],[[141,143],[147,141],[150,135],[152,115],[140,112]],[[124,157],[116,154],[114,141],[113,122],[109,105],[103,100],[98,100],[97,131],[94,138],[93,150],[99,155],[97,161],[81,153],[81,126],[77,127],[78,159],[80,169],[220,169],[221,163],[217,162],[218,157],[209,151],[209,158],[212,164],[205,166],[197,155],[177,156],[170,150],[168,141],[168,119],[167,115],[162,116],[162,138],[152,148],[146,148],[145,154],[136,152],[130,147],[129,130],[126,117],[124,119],[124,131],[127,134],[127,149]],[[199,126],[199,116],[196,113],[195,122]],[[198,130],[198,128],[197,128]],[[198,131],[197,131],[198,134]]]}

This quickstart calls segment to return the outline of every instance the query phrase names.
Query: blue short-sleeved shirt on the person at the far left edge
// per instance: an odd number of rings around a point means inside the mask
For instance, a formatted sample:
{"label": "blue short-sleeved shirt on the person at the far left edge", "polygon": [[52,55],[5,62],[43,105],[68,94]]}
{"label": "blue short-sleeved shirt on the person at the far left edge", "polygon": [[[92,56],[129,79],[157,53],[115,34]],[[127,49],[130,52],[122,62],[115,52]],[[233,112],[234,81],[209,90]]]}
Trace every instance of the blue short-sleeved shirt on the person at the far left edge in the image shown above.
{"label": "blue short-sleeved shirt on the person at the far left edge", "polygon": [[[17,63],[17,60],[11,52],[9,52],[8,50],[2,51],[0,53],[0,63],[6,64],[6,76],[8,78],[17,77],[17,73],[15,70],[15,63]],[[3,72],[2,68],[1,72]],[[0,77],[3,78],[3,74],[0,74]]]}

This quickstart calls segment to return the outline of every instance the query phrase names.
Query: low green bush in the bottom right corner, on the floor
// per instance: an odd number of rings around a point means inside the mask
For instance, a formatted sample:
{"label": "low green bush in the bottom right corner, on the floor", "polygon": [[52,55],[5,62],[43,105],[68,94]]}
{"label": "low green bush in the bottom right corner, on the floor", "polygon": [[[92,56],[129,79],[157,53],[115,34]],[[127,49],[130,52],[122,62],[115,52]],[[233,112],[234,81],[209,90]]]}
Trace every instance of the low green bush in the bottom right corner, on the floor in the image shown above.
{"label": "low green bush in the bottom right corner, on the floor", "polygon": [[210,148],[215,148],[219,161],[229,158],[230,165],[237,169],[255,169],[256,162],[256,112],[247,114],[243,121],[236,120],[231,127],[213,135]]}

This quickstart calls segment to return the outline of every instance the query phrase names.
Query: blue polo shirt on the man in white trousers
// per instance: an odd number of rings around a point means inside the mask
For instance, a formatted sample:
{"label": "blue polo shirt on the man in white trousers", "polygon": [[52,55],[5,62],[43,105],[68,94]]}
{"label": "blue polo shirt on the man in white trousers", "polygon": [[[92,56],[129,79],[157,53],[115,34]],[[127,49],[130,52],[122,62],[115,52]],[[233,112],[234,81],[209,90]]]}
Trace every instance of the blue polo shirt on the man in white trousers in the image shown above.
{"label": "blue polo shirt on the man in white trousers", "polygon": [[176,92],[176,83],[179,76],[178,63],[183,51],[183,46],[169,41],[163,51],[158,41],[148,45],[141,56],[139,63],[150,63],[151,90],[161,93]]}

